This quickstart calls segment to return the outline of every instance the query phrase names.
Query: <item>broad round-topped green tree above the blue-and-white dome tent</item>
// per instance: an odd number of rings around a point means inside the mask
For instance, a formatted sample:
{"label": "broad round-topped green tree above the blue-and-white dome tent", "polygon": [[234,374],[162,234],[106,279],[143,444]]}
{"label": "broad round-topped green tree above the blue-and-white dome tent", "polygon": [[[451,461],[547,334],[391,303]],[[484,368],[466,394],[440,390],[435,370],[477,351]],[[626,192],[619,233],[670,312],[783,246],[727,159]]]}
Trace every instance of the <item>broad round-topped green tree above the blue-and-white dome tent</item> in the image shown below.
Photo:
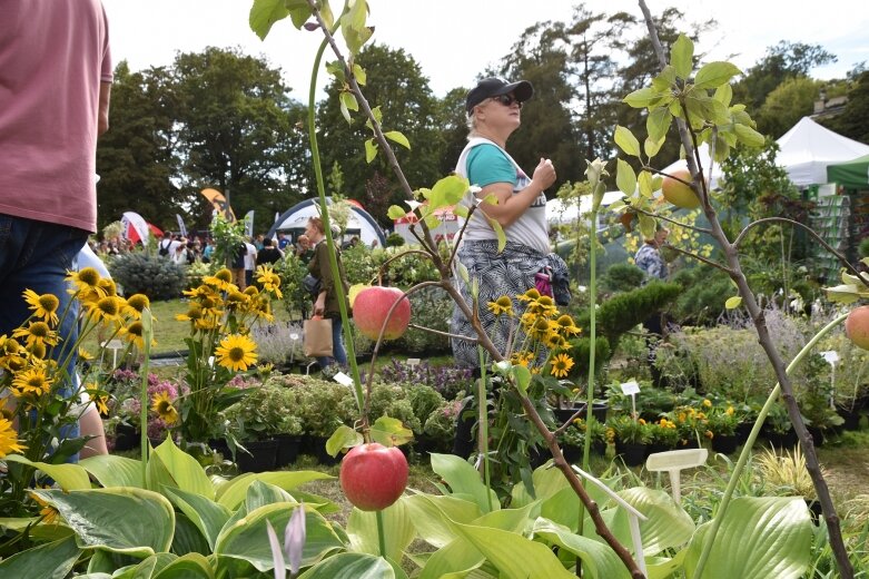
{"label": "broad round-topped green tree above the blue-and-white dome tent", "polygon": [[[237,216],[271,216],[304,195],[307,140],[295,129],[304,109],[288,97],[279,70],[236,49],[181,53],[172,68],[181,186],[191,198],[203,187],[229,197]],[[198,200],[195,226],[210,212]]]}

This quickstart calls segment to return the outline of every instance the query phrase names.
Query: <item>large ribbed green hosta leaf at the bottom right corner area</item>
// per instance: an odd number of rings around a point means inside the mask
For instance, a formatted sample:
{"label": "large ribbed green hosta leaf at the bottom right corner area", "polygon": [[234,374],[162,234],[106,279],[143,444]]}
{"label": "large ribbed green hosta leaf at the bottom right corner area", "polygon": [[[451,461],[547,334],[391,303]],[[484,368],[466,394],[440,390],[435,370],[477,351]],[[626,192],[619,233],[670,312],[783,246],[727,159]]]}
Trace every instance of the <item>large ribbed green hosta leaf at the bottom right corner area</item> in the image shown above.
{"label": "large ribbed green hosta leaf at the bottom right corner area", "polygon": [[[685,558],[688,578],[694,576],[708,522],[701,526]],[[803,576],[811,560],[812,524],[801,498],[734,499],[712,544],[703,578],[790,579]]]}

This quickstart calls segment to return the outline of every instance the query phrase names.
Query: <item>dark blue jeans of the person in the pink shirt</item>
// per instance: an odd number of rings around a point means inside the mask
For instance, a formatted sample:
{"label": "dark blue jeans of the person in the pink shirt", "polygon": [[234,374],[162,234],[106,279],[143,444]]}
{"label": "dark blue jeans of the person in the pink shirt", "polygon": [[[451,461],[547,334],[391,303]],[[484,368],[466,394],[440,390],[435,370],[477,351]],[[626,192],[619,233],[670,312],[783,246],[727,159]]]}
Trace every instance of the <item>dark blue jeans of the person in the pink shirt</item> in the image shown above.
{"label": "dark blue jeans of the person in the pink shirt", "polygon": [[[58,316],[67,311],[72,296],[67,292],[67,271],[88,239],[87,232],[55,223],[37,222],[0,214],[0,335],[10,335],[28,317],[30,310],[22,294],[55,294],[60,301]],[[49,346],[51,357],[66,359],[78,338],[78,302],[72,302],[62,318],[59,334],[62,341]],[[73,376],[78,352],[69,356],[67,376]],[[61,391],[71,395],[71,383]],[[78,438],[78,425],[62,432],[63,438]]]}

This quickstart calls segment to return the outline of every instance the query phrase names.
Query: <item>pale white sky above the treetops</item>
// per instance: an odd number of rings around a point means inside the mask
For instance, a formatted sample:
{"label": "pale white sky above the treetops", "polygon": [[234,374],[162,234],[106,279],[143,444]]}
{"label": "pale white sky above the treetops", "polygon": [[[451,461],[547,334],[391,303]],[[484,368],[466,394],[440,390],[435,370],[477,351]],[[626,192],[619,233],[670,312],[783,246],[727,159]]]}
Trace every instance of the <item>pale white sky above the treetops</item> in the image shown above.
{"label": "pale white sky above the treetops", "polygon": [[[102,0],[109,18],[112,60],[132,70],[170,65],[178,51],[208,46],[239,47],[280,68],[290,96],[307,100],[310,67],[322,36],[298,31],[289,19],[277,22],[265,41],[248,27],[251,0]],[[646,0],[653,13],[679,6],[689,22],[714,18],[714,31],[701,36],[698,50],[708,60],[729,59],[742,69],[780,40],[818,43],[839,57],[812,77],[842,78],[855,63],[869,61],[869,10],[857,0]],[[332,0],[334,7],[340,6]],[[546,20],[570,21],[569,0],[368,0],[374,40],[403,48],[419,63],[435,95],[471,87],[476,76],[510,52],[521,33]],[[642,17],[634,0],[587,0],[592,12],[624,10]],[[327,55],[327,60],[330,60]],[[318,92],[327,81],[319,73]]]}

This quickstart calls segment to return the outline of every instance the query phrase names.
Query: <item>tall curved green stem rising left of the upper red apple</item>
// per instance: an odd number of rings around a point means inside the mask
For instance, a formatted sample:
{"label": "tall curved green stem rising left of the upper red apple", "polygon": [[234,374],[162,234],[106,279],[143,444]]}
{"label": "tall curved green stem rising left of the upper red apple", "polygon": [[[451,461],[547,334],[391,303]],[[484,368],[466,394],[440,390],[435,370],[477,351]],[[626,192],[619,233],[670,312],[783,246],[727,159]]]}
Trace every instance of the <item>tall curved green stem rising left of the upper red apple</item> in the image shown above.
{"label": "tall curved green stem rising left of the upper red apple", "polygon": [[[339,19],[336,21],[334,29],[330,32],[337,30],[339,26]],[[314,111],[316,110],[315,92],[317,88],[317,72],[319,71],[320,61],[323,60],[323,52],[328,46],[328,38],[325,38],[320,42],[317,49],[317,56],[314,58],[314,68],[310,71],[310,88],[308,92],[308,137],[310,139],[310,156],[314,161],[314,174],[317,177],[317,195],[319,197],[320,216],[323,217],[323,227],[326,229],[326,244],[329,248],[329,268],[332,269],[332,278],[335,282],[335,294],[338,296],[338,308],[340,310],[342,330],[344,331],[344,342],[347,350],[347,361],[350,363],[350,374],[353,376],[353,386],[356,393],[356,406],[359,410],[363,424],[363,435],[368,438],[367,426],[368,416],[365,415],[364,409],[364,394],[362,391],[362,379],[359,376],[359,366],[356,364],[356,347],[353,344],[353,327],[350,327],[350,318],[347,312],[347,296],[344,294],[344,279],[340,276],[340,269],[338,268],[338,258],[335,253],[335,241],[332,237],[332,225],[329,219],[329,209],[326,205],[326,188],[323,180],[323,167],[319,161],[319,146],[317,145],[316,133],[316,119]],[[374,369],[372,369],[374,371]]]}

